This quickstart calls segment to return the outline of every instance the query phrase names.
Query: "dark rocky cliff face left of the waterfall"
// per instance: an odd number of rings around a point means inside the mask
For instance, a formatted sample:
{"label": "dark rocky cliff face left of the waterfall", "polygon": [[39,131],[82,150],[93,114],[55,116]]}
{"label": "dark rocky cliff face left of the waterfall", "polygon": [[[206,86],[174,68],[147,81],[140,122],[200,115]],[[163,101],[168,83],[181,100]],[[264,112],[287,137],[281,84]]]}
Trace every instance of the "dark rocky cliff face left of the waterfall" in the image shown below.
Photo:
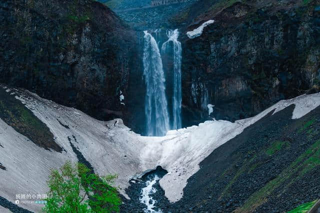
{"label": "dark rocky cliff face left of the waterfall", "polygon": [[0,13],[0,82],[99,119],[128,113],[119,96],[129,95],[140,56],[135,32],[110,9],[93,0],[9,0]]}

